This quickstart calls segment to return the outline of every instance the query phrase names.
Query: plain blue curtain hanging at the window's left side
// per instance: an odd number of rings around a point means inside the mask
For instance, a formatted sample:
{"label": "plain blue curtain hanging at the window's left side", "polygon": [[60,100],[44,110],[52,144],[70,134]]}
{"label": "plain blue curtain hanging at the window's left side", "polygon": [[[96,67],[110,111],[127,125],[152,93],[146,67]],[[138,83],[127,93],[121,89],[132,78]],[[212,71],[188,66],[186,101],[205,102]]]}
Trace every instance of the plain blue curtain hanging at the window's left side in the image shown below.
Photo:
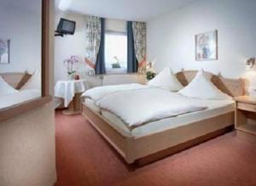
{"label": "plain blue curtain hanging at the window's left side", "polygon": [[102,31],[101,31],[101,44],[99,53],[97,55],[96,60],[96,67],[95,67],[95,73],[96,74],[103,74],[106,73],[106,67],[105,67],[105,19],[101,18],[101,25],[102,25]]}

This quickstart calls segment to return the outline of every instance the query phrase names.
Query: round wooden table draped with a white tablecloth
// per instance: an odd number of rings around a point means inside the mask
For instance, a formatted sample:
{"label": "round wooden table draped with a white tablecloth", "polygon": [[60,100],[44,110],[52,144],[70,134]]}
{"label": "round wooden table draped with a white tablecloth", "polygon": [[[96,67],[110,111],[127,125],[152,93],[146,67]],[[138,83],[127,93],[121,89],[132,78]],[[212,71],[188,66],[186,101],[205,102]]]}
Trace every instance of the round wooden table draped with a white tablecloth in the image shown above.
{"label": "round wooden table draped with a white tablecloth", "polygon": [[81,113],[80,96],[86,88],[86,79],[61,80],[55,84],[55,97],[62,98],[65,108],[68,108],[62,112],[63,114]]}

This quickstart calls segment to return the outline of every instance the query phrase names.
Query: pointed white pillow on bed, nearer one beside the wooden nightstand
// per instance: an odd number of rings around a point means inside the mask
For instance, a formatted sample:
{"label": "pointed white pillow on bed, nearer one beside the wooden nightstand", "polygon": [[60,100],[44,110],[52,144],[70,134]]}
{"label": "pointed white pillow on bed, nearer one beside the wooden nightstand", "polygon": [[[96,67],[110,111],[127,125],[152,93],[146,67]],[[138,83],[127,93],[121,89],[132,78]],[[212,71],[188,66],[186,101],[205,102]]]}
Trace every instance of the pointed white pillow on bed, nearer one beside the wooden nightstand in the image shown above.
{"label": "pointed white pillow on bed, nearer one beside the wooden nightstand", "polygon": [[221,90],[218,90],[218,88],[212,84],[212,81],[209,80],[202,71],[196,74],[195,78],[188,86],[179,90],[179,93],[183,96],[207,100],[232,99]]}

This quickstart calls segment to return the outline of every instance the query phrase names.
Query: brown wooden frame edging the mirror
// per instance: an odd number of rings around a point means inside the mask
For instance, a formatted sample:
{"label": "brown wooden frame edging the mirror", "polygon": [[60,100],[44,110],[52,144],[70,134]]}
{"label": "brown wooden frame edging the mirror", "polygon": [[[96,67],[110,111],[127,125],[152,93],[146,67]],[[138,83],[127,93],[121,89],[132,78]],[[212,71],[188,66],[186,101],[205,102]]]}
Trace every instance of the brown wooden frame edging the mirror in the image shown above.
{"label": "brown wooden frame edging the mirror", "polygon": [[0,122],[14,118],[15,116],[26,113],[27,111],[38,108],[47,102],[51,102],[49,96],[49,0],[42,0],[42,49],[41,49],[41,72],[42,72],[42,94],[41,97],[23,102],[9,108],[0,110]]}

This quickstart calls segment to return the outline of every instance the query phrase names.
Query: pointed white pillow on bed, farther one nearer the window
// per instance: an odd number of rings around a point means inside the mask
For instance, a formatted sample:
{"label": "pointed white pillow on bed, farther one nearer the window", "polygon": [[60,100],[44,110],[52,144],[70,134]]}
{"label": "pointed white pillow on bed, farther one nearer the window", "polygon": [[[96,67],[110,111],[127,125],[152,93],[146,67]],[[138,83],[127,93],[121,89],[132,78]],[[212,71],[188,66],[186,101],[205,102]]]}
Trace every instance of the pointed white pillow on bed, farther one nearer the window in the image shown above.
{"label": "pointed white pillow on bed, farther one nearer the window", "polygon": [[148,85],[171,91],[177,91],[183,88],[183,85],[177,80],[169,67],[166,67],[156,77],[148,81]]}

